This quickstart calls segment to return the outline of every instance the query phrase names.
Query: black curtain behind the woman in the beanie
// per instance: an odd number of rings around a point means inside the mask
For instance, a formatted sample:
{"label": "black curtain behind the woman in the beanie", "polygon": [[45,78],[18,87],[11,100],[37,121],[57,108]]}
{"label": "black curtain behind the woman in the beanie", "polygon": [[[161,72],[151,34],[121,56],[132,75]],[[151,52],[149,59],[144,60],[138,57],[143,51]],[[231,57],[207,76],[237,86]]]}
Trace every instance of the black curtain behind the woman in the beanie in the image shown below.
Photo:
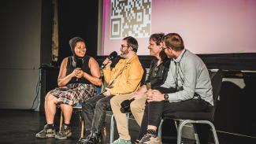
{"label": "black curtain behind the woman in the beanie", "polygon": [[83,38],[87,54],[96,57],[98,39],[98,0],[58,1],[59,57],[57,65],[72,54],[69,39]]}

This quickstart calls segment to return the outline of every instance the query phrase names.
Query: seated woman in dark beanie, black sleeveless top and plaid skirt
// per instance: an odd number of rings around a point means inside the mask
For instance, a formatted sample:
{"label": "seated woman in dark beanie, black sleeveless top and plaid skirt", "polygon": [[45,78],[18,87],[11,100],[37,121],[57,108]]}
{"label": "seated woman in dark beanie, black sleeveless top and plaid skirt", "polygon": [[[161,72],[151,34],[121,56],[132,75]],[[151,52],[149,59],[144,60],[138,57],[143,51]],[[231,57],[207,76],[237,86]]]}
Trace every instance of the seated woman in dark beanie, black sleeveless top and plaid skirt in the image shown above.
{"label": "seated woman in dark beanie, black sleeveless top and plaid skirt", "polygon": [[[45,98],[46,125],[35,135],[37,138],[65,139],[72,135],[69,123],[72,106],[86,101],[95,95],[95,86],[101,86],[98,62],[86,54],[86,45],[82,38],[69,40],[72,56],[65,57],[61,63],[58,86],[50,90]],[[64,115],[64,124],[56,134],[54,116],[56,106],[60,106]]]}

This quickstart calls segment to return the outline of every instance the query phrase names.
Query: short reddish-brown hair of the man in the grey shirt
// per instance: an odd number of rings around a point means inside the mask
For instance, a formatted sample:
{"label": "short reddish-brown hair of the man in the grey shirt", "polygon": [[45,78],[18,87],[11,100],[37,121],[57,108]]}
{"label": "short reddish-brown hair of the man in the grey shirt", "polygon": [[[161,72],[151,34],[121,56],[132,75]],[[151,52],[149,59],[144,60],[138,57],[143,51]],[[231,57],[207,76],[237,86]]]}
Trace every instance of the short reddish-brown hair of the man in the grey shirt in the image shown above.
{"label": "short reddish-brown hair of the man in the grey shirt", "polygon": [[179,34],[169,33],[164,36],[163,42],[166,47],[172,47],[175,51],[184,50],[184,42]]}

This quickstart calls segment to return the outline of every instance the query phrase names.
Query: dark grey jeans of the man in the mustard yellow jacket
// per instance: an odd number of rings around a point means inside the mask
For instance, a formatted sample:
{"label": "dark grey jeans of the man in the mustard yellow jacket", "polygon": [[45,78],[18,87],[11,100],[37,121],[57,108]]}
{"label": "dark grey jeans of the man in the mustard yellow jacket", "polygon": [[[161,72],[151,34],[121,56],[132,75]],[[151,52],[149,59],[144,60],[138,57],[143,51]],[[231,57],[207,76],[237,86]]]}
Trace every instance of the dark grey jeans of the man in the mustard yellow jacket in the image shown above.
{"label": "dark grey jeans of the man in the mustard yellow jacket", "polygon": [[112,97],[97,94],[83,102],[82,115],[85,131],[101,134],[106,118],[106,109],[110,108],[110,99]]}

